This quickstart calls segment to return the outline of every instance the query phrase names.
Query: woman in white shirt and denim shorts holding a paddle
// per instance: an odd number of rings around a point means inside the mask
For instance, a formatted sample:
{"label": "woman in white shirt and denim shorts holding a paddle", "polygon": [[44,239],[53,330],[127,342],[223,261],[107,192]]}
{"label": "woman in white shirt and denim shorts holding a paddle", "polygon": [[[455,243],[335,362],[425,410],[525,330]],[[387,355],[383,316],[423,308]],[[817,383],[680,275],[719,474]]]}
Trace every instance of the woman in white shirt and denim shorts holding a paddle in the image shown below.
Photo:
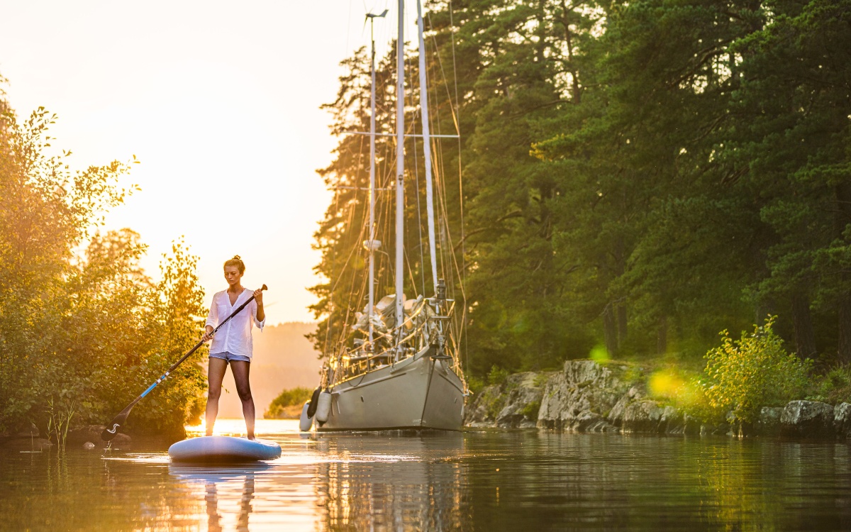
{"label": "woman in white shirt and denim shorts holding a paddle", "polygon": [[237,383],[239,400],[243,402],[243,416],[248,439],[254,439],[254,399],[251,398],[251,386],[248,385],[248,369],[251,365],[252,341],[251,328],[256,325],[263,330],[266,323],[266,312],[263,310],[263,291],[254,290],[254,300],[242,312],[231,318],[231,321],[212,335],[213,329],[226,317],[231,315],[237,306],[242,305],[252,295],[252,291],[243,288],[239,283],[245,273],[245,264],[234,255],[225,262],[225,279],[228,287],[213,296],[210,313],[207,317],[206,332],[203,340],[211,338],[209,369],[207,371],[207,436],[213,435],[215,417],[219,414],[219,398],[221,396],[221,381],[225,378],[227,364],[231,363],[233,380]]}

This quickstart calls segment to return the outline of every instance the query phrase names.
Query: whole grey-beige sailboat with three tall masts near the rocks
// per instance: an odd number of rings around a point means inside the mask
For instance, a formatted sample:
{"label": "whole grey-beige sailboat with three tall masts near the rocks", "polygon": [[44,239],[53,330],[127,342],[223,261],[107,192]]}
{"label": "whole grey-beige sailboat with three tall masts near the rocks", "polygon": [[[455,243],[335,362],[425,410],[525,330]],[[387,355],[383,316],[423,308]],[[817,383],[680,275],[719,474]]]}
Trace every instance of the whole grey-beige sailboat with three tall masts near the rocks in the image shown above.
{"label": "whole grey-beige sailboat with three tall masts near the rocks", "polygon": [[[374,301],[375,239],[375,52],[371,64],[368,303],[349,329],[360,335],[351,346],[328,353],[320,386],[305,405],[301,428],[315,420],[318,431],[369,431],[393,429],[460,430],[465,398],[469,395],[460,369],[452,318],[455,301],[438,277],[435,214],[431,172],[431,132],[426,90],[426,49],[423,19],[417,2],[420,51],[420,112],[426,168],[426,211],[431,255],[431,297],[406,299],[403,294],[403,184],[404,184],[404,75],[403,12],[398,2],[397,118],[396,118],[396,250],[395,294]],[[368,14],[368,18],[384,16]],[[418,135],[419,136],[419,135]],[[448,135],[440,135],[448,136]]]}

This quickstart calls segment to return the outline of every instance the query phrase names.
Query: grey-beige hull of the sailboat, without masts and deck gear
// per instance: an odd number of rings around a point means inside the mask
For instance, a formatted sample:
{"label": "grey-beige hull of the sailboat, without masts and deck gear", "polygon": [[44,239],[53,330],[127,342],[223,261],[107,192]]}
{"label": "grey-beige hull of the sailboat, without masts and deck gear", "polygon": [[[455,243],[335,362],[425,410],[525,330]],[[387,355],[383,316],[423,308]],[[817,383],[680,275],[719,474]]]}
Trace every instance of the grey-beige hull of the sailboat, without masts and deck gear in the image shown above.
{"label": "grey-beige hull of the sailboat, without masts and deck gear", "polygon": [[319,431],[440,429],[459,431],[463,384],[451,359],[427,348],[410,358],[331,387],[331,413]]}

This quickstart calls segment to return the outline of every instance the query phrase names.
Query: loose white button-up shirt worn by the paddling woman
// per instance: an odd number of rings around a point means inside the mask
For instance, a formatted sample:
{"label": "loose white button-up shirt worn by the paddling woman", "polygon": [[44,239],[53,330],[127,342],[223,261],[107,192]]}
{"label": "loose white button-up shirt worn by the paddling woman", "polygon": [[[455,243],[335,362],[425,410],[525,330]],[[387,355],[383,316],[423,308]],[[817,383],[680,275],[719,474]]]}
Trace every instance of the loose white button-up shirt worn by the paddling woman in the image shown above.
{"label": "loose white button-up shirt worn by the paddling woman", "polygon": [[[237,297],[237,301],[231,305],[231,298],[227,295],[227,290],[216,292],[213,296],[213,303],[210,305],[210,313],[207,317],[206,325],[212,326],[214,329],[231,315],[231,312],[248,300],[254,290],[243,289],[243,293]],[[262,322],[257,319],[257,301],[252,300],[243,308],[236,316],[231,317],[231,321],[219,329],[213,337],[213,342],[210,344],[210,352],[230,352],[234,355],[244,355],[248,358],[252,357],[254,351],[254,342],[251,341],[251,328],[254,325],[258,329],[263,330],[263,325],[266,324],[266,319]]]}

